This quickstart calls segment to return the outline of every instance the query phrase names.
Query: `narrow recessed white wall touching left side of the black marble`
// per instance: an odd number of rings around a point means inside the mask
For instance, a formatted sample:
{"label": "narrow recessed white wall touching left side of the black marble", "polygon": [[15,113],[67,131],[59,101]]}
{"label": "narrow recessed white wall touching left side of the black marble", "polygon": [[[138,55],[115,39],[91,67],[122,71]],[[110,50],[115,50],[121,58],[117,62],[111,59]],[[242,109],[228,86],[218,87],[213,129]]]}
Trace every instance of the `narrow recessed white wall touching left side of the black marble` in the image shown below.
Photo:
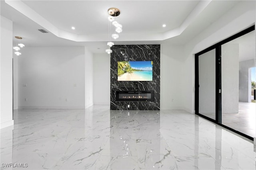
{"label": "narrow recessed white wall touching left side of the black marble", "polygon": [[93,103],[110,104],[110,55],[93,55]]}

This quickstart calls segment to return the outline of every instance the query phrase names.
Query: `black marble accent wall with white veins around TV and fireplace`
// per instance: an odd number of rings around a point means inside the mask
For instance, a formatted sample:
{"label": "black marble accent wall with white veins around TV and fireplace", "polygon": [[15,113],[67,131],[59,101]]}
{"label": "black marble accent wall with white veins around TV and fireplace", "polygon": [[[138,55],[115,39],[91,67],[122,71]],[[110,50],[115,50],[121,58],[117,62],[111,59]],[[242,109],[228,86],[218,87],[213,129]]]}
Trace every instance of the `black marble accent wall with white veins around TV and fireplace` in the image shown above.
{"label": "black marble accent wall with white veins around TV and fireplace", "polygon": [[[160,45],[114,45],[111,49],[110,109],[160,110]],[[152,81],[118,81],[118,61],[153,61]],[[154,102],[116,102],[116,91],[148,90],[154,90]]]}

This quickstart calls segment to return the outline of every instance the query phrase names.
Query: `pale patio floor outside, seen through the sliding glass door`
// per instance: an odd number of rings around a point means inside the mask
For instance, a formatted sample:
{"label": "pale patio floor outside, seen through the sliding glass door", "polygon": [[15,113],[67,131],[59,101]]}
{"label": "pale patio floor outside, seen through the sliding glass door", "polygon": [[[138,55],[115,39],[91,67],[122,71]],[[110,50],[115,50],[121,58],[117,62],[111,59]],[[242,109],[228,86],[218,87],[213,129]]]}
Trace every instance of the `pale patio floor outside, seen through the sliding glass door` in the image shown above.
{"label": "pale patio floor outside, seen through the sliding glass door", "polygon": [[[215,120],[215,113],[202,113]],[[256,103],[239,102],[239,113],[222,113],[222,124],[256,137]]]}

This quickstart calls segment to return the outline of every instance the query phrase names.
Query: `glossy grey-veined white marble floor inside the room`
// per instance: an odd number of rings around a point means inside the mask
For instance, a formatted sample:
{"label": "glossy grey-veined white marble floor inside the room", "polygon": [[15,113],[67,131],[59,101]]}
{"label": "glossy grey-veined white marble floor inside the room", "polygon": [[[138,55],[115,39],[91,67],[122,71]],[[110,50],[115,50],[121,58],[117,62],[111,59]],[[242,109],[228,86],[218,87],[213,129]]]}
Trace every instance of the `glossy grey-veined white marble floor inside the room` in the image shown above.
{"label": "glossy grey-veined white marble floor inside the room", "polygon": [[24,170],[256,168],[252,142],[196,115],[109,106],[18,110],[14,129],[1,129],[0,155]]}

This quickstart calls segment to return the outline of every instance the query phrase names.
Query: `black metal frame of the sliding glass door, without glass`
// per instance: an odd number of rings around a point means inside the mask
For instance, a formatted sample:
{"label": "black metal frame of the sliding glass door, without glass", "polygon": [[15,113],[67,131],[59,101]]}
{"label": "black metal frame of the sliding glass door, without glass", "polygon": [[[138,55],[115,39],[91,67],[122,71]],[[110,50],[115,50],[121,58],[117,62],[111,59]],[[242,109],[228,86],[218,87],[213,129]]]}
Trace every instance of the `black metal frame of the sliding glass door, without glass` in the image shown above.
{"label": "black metal frame of the sliding glass door, without glass", "polygon": [[[199,53],[195,54],[195,112],[196,115],[199,115],[200,117],[203,117],[204,119],[207,119],[209,121],[212,121],[213,123],[216,123],[230,131],[233,131],[239,135],[242,135],[243,137],[246,137],[250,140],[253,141],[253,137],[250,137],[244,133],[241,133],[239,131],[236,131],[235,129],[232,129],[226,125],[222,124],[222,96],[221,96],[221,45],[232,41],[238,37],[241,37],[242,35],[245,35],[247,33],[250,33],[251,31],[255,30],[255,25],[244,29],[243,31],[236,33],[235,35],[232,35],[231,37],[228,37],[227,39],[224,39],[223,41],[220,41],[202,51],[200,51]],[[199,65],[198,65],[198,61],[199,61],[199,56],[207,53],[208,51],[211,51],[215,49],[216,50],[216,54],[215,54],[215,62],[216,62],[216,89],[215,89],[215,94],[216,94],[216,119],[211,119],[210,117],[207,117],[205,115],[202,115],[199,113]]]}

